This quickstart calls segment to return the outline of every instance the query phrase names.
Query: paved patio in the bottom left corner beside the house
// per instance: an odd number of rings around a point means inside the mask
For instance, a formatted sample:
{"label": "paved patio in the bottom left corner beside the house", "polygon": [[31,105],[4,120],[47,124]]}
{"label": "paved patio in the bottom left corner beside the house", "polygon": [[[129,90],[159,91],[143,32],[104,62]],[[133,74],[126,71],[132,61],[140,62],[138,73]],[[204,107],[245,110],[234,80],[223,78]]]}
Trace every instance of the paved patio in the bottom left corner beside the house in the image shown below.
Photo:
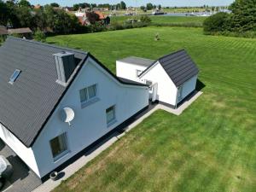
{"label": "paved patio in the bottom left corner beside the house", "polygon": [[3,192],[29,192],[42,182],[20,158],[0,139],[0,154],[9,160],[14,168],[14,174],[6,181]]}

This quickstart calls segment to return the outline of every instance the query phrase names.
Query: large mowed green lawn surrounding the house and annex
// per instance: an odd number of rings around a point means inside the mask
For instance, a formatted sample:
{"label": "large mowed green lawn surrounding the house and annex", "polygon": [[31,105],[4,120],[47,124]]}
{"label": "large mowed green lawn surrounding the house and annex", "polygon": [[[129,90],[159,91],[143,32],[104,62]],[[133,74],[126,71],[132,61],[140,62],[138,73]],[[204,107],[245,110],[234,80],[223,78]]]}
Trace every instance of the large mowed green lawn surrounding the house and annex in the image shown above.
{"label": "large mowed green lawn surrounding the house and annex", "polygon": [[[159,42],[154,41],[157,32]],[[186,49],[205,84],[199,84],[203,95],[182,115],[157,111],[55,192],[255,191],[255,39],[205,36],[199,28],[147,27],[48,42],[88,50],[113,72],[115,61],[125,56],[157,59]]]}

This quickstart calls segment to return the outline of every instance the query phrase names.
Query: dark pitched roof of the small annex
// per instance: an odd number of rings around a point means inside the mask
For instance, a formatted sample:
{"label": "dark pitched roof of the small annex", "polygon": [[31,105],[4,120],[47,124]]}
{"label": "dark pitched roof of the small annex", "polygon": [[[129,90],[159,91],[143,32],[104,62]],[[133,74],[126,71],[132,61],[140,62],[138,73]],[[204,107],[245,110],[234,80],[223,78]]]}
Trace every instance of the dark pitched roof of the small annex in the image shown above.
{"label": "dark pitched roof of the small annex", "polygon": [[[199,69],[196,67],[195,62],[184,49],[178,50],[170,55],[165,55],[158,61],[177,87],[199,73]],[[154,63],[145,69],[143,73],[146,73]],[[142,76],[143,73],[140,76]]]}

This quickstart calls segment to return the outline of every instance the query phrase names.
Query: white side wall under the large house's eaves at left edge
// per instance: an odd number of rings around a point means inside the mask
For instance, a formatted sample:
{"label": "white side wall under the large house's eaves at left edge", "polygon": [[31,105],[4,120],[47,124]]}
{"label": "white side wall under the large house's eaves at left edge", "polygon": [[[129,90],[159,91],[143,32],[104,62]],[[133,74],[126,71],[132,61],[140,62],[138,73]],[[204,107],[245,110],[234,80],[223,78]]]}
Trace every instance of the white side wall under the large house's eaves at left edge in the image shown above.
{"label": "white side wall under the large house's eaves at left edge", "polygon": [[32,148],[26,148],[26,146],[20,142],[8,129],[0,124],[0,138],[17,154],[21,160],[26,162],[33,172],[39,175],[38,166],[34,157]]}

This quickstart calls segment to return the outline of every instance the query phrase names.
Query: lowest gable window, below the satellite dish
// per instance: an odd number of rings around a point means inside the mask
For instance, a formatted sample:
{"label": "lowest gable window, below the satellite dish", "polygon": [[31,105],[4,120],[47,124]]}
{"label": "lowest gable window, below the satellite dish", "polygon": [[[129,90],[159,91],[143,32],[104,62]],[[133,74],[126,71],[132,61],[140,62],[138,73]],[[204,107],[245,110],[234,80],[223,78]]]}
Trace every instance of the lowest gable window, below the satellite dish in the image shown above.
{"label": "lowest gable window, below the satellite dish", "polygon": [[55,160],[59,160],[63,155],[67,154],[67,136],[62,133],[60,136],[49,141],[51,153]]}

